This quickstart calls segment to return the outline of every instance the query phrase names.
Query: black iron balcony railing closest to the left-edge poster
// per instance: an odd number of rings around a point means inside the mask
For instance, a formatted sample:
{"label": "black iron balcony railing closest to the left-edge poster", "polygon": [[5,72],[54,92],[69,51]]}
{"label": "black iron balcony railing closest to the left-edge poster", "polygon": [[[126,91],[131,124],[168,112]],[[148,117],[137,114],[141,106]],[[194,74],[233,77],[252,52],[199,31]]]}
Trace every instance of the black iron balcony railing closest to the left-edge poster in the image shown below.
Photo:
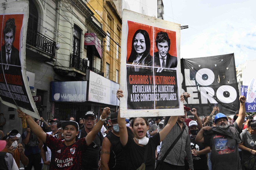
{"label": "black iron balcony railing closest to the left-edge poster", "polygon": [[39,32],[35,32],[28,28],[26,43],[35,47],[36,49],[45,52],[52,57],[55,57],[56,42]]}

